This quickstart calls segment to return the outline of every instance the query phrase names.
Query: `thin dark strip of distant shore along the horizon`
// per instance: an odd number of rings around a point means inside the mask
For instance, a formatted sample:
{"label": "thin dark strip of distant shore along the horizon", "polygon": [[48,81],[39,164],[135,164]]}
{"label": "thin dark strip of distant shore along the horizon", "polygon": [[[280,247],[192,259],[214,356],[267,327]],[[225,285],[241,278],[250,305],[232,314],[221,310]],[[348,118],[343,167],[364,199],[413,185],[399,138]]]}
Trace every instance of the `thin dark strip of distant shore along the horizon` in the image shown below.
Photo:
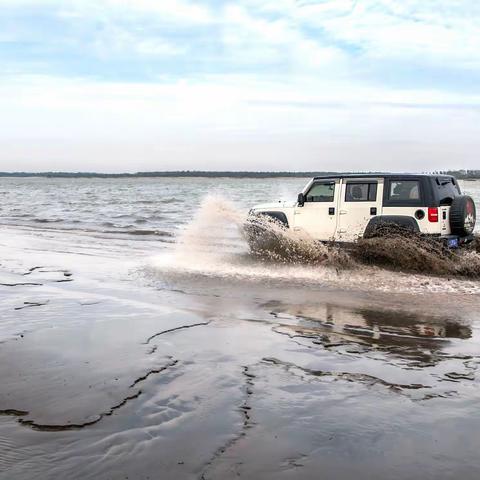
{"label": "thin dark strip of distant shore along the horizon", "polygon": [[[320,175],[338,175],[339,173],[371,173],[378,175],[385,172],[252,172],[252,171],[206,171],[177,170],[136,173],[99,173],[99,172],[0,172],[0,177],[44,177],[44,178],[291,178],[314,177]],[[432,173],[432,172],[430,172]],[[433,172],[438,175],[453,175],[464,180],[480,179],[480,170],[447,170]]]}

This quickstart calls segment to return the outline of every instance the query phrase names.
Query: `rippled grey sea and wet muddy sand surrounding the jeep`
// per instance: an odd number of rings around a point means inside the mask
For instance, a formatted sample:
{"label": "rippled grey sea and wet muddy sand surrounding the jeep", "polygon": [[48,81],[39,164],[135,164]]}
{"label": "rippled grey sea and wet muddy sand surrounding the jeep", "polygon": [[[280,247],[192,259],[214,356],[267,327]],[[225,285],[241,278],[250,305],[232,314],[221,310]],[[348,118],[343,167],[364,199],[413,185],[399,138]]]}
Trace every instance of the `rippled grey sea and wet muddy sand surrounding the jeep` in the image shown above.
{"label": "rippled grey sea and wet muddy sand surrounding the jeep", "polygon": [[478,478],[478,280],[253,258],[297,180],[62,182],[1,183],[2,480]]}

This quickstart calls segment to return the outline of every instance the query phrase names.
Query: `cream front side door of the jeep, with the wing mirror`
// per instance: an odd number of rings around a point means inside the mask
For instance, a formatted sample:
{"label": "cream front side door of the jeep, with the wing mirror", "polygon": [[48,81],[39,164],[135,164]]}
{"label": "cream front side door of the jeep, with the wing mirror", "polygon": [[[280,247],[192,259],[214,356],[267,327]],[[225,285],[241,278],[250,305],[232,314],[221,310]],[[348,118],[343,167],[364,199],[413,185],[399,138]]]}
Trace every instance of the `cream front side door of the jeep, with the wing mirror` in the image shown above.
{"label": "cream front side door of the jeep, with the wing mirror", "polygon": [[294,229],[317,240],[333,240],[337,229],[340,179],[319,179],[307,187],[303,206],[295,207]]}

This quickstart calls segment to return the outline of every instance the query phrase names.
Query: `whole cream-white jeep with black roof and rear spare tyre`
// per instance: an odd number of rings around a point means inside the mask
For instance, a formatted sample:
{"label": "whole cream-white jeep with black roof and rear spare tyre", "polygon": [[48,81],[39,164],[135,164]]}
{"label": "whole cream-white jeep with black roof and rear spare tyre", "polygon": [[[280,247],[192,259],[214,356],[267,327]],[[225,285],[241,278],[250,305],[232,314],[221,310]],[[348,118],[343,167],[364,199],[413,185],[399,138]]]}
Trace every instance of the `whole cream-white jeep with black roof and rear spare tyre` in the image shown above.
{"label": "whole cream-white jeep with black roof and rear spare tyre", "polygon": [[395,224],[455,248],[473,239],[476,209],[451,176],[345,174],[315,177],[297,202],[257,205],[250,215],[267,216],[320,241],[353,242],[380,224]]}

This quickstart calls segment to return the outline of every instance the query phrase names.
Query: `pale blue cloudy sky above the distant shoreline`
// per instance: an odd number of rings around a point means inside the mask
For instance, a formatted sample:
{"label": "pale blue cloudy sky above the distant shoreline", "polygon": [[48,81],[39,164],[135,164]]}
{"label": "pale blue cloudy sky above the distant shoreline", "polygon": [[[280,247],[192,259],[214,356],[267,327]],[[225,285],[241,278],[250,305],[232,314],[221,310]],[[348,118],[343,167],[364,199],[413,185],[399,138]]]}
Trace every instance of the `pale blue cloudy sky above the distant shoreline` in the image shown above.
{"label": "pale blue cloudy sky above the distant shoreline", "polygon": [[478,0],[0,0],[0,171],[480,169]]}

